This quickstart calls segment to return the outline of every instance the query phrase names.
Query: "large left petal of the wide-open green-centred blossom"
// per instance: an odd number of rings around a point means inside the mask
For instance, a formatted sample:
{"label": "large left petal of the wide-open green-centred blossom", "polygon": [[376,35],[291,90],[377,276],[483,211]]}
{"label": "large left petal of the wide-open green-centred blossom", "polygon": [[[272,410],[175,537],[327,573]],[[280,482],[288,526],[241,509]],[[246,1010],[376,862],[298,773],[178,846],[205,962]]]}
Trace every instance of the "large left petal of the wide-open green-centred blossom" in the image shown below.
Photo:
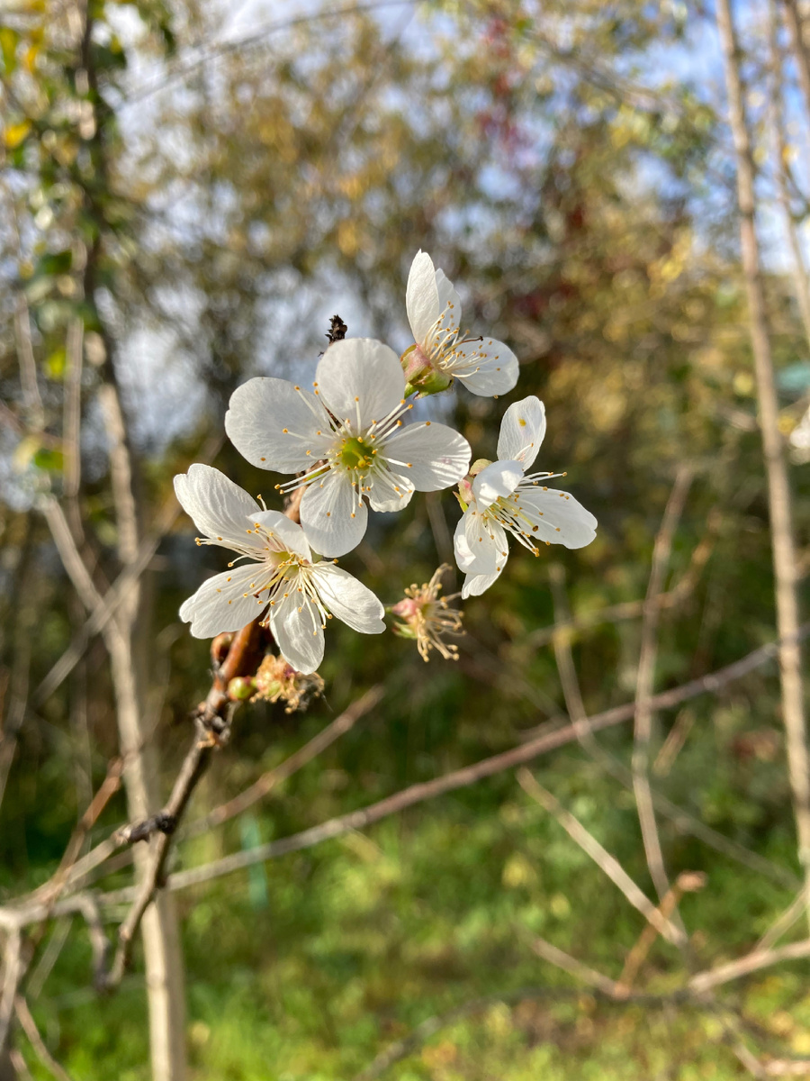
{"label": "large left petal of the wide-open green-centred blossom", "polygon": [[273,378],[248,379],[233,391],[225,430],[251,465],[278,472],[310,468],[334,439],[318,398]]}

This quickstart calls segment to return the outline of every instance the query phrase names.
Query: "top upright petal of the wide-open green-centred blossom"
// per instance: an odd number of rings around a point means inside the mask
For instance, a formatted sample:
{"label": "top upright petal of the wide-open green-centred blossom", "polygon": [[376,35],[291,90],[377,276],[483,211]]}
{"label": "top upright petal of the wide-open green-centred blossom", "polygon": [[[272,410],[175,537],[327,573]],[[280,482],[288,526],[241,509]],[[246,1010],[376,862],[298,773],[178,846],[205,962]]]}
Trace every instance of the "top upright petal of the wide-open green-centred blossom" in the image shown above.
{"label": "top upright petal of the wide-open green-centred blossom", "polygon": [[335,342],[315,373],[319,396],[355,433],[396,409],[405,397],[405,375],[393,349],[374,338]]}

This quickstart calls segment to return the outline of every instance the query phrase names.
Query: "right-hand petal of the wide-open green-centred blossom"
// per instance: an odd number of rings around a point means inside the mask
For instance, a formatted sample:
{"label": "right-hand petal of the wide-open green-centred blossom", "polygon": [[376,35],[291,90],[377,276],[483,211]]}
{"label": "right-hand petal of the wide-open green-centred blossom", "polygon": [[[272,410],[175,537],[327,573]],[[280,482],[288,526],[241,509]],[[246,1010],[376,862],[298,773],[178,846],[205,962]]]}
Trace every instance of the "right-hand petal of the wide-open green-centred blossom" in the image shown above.
{"label": "right-hand petal of the wide-open green-centred blossom", "polygon": [[400,428],[377,453],[417,492],[438,492],[458,483],[470,468],[472,454],[463,436],[431,421]]}

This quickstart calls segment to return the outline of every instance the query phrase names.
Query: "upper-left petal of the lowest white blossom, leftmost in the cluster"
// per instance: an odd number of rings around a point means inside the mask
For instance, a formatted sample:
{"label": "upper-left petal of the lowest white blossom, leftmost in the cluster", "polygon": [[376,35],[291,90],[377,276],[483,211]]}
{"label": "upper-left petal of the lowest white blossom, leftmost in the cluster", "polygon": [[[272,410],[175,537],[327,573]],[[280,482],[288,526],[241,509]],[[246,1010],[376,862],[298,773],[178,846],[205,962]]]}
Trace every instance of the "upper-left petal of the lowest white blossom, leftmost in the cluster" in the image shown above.
{"label": "upper-left petal of the lowest white blossom, leftmost in the cluster", "polygon": [[174,490],[183,509],[206,537],[222,542],[225,547],[229,542],[254,547],[245,517],[254,515],[259,505],[225,473],[195,463],[187,473],[175,477]]}

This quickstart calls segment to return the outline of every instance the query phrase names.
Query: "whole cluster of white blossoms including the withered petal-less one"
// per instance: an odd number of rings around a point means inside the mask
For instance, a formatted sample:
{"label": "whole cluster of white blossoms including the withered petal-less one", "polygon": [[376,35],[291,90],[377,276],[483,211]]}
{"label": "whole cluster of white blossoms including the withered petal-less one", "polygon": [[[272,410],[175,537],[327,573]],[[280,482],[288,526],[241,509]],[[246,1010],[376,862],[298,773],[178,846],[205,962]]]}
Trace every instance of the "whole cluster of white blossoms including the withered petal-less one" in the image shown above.
{"label": "whole cluster of white blossoms including the withered petal-less one", "polygon": [[[231,397],[225,429],[252,465],[291,480],[280,494],[300,496],[300,524],[268,509],[219,470],[192,465],[175,477],[175,492],[202,536],[200,545],[230,549],[235,558],[208,578],[180,609],[191,633],[210,638],[260,617],[284,660],[314,672],[323,659],[324,629],[336,617],[366,635],[384,630],[378,598],[337,565],[363,539],[368,508],[393,512],[415,492],[458,485],[462,508],[455,555],[464,573],[463,598],[484,592],[509,555],[508,534],[535,555],[539,545],[581,548],[595,536],[596,519],[548,481],[529,472],[545,433],[545,411],[531,396],[509,406],[497,461],[477,459],[459,432],[435,421],[410,421],[414,402],[455,381],[475,395],[497,397],[517,383],[518,364],[502,342],[462,330],[453,283],[419,252],[408,277],[406,311],[414,344],[399,357],[369,338],[333,342],[312,389],[257,377]],[[392,613],[395,629],[453,657],[443,635],[458,633],[460,614],[437,601],[436,572],[421,590],[411,586]]]}

